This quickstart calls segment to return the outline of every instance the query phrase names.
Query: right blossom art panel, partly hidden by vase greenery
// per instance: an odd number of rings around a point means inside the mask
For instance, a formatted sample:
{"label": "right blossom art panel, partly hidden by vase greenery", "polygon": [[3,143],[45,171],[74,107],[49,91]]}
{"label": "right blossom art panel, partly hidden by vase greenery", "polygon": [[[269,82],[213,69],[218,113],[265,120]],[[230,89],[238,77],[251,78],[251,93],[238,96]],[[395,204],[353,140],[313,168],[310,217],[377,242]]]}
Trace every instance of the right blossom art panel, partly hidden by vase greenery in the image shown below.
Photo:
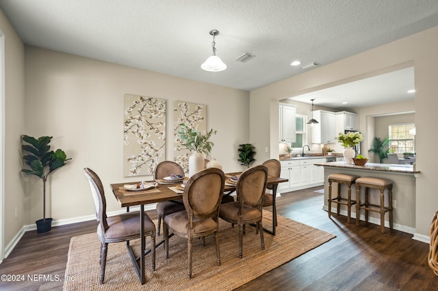
{"label": "right blossom art panel, partly hidden by vase greenery", "polygon": [[188,127],[196,128],[203,132],[207,130],[207,106],[202,104],[194,104],[182,101],[175,101],[174,107],[175,126],[173,135],[175,137],[175,153],[174,160],[183,167],[184,171],[188,171],[189,156],[192,154],[189,150],[181,146],[181,139],[177,133],[179,124],[185,124]]}

